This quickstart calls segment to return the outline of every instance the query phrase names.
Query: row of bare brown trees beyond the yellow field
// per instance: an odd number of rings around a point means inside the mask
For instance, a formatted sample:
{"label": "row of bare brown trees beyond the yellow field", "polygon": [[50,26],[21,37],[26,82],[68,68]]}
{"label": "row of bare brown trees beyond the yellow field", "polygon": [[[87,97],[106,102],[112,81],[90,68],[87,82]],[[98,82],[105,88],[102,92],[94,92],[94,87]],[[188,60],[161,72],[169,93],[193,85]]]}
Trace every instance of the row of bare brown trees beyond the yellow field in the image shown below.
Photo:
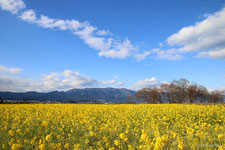
{"label": "row of bare brown trees beyond the yellow field", "polygon": [[169,83],[163,83],[159,87],[143,88],[136,92],[136,100],[144,100],[147,103],[221,103],[223,92],[215,90],[209,92],[206,87],[197,83],[190,83],[181,78]]}

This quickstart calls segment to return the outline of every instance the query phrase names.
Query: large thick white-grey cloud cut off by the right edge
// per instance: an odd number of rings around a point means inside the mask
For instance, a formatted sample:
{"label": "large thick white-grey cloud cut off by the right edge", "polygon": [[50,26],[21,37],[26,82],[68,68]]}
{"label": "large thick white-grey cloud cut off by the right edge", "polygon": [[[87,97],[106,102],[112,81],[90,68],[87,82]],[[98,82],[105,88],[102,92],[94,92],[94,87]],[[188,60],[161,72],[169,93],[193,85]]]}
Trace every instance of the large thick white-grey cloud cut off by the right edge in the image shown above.
{"label": "large thick white-grey cloud cut off by the right edge", "polygon": [[193,26],[184,27],[167,38],[172,46],[182,46],[181,52],[200,52],[199,57],[224,59],[225,8],[207,15]]}

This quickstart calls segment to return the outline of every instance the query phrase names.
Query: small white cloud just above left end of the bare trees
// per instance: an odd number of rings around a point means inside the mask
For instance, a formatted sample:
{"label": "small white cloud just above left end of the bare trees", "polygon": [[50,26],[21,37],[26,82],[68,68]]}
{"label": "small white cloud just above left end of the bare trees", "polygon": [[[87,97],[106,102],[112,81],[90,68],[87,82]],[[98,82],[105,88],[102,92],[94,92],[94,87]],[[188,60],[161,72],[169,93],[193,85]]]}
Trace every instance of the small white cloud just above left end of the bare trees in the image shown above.
{"label": "small white cloud just above left end of the bare trees", "polygon": [[144,79],[137,81],[133,87],[134,88],[145,88],[145,87],[152,87],[152,86],[159,86],[161,84],[160,81],[158,81],[155,77],[152,77],[151,79]]}

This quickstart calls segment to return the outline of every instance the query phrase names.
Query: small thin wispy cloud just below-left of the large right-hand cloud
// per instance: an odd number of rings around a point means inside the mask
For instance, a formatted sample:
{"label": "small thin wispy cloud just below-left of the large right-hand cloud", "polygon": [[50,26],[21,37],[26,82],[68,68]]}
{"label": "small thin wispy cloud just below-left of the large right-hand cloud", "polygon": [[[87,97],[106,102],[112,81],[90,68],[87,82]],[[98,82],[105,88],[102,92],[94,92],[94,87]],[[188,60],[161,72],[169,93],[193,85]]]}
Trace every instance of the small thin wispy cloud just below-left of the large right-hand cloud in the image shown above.
{"label": "small thin wispy cloud just below-left of the large right-hand cloud", "polygon": [[167,59],[167,60],[181,60],[183,56],[176,49],[160,50],[159,48],[153,49],[152,54],[156,54],[154,58]]}

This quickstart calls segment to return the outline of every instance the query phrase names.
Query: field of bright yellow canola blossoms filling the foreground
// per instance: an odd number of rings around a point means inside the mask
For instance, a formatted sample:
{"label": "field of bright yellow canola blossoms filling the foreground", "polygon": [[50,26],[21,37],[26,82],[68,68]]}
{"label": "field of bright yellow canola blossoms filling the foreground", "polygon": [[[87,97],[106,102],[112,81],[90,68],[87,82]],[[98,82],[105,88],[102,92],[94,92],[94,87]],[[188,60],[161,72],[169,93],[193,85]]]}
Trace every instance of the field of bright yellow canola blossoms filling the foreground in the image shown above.
{"label": "field of bright yellow canola blossoms filling the foreground", "polygon": [[0,105],[0,149],[225,149],[225,105]]}

